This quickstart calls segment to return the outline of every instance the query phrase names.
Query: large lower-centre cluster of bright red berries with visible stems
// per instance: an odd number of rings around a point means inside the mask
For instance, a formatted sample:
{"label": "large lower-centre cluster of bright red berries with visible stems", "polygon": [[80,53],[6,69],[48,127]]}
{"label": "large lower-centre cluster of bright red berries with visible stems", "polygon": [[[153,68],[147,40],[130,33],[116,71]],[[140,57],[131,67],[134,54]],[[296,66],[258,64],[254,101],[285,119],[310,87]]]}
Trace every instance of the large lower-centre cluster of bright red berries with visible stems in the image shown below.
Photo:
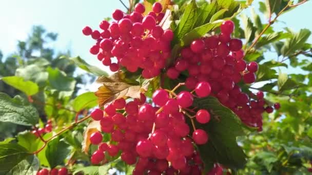
{"label": "large lower-centre cluster of bright red berries with visible stems", "polygon": [[[207,90],[210,90],[209,83],[199,82],[194,92],[202,98],[210,94]],[[177,95],[169,92],[156,90],[152,95],[154,106],[146,103],[146,97],[141,94],[140,99],[126,103],[125,99],[120,98],[106,104],[104,111],[94,110],[91,117],[100,121],[102,132],[110,133],[112,143],[116,144],[102,142],[101,132],[91,134],[90,142],[99,145],[91,156],[91,162],[100,164],[105,159],[105,151],[110,156],[116,156],[121,150],[124,162],[136,164],[133,174],[201,172],[202,162],[193,144],[205,144],[208,135],[203,129],[195,129],[192,137],[188,137],[190,128],[185,116],[194,117],[204,124],[209,122],[210,114],[206,110],[199,110],[194,116],[186,115],[193,104],[194,95],[188,91]],[[172,167],[169,167],[169,162]]]}

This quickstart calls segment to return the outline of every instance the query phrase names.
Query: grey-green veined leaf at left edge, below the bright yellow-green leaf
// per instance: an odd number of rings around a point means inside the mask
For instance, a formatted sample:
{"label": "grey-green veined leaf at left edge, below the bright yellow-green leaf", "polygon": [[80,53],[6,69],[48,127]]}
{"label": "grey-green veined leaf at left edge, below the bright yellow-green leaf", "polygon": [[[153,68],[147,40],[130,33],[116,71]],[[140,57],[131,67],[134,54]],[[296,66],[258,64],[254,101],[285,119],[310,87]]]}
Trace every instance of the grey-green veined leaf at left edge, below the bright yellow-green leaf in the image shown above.
{"label": "grey-green veined leaf at left edge, below the bright yellow-green leaf", "polygon": [[0,121],[21,125],[35,125],[39,115],[35,107],[26,104],[21,97],[11,98],[0,93]]}

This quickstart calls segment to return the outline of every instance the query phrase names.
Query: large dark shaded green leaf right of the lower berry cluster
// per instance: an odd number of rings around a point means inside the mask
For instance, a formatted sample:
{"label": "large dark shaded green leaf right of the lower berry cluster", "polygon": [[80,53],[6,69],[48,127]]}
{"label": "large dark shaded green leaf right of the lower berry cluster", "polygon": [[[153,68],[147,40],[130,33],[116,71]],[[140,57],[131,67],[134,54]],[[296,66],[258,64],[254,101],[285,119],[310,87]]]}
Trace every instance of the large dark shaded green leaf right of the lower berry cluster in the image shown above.
{"label": "large dark shaded green leaf right of the lower berry cluster", "polygon": [[238,146],[236,137],[245,135],[243,128],[246,126],[243,126],[235,113],[223,106],[217,98],[196,99],[194,106],[208,110],[211,115],[208,124],[196,126],[206,130],[209,135],[208,142],[198,146],[206,167],[218,162],[232,169],[243,168],[246,155]]}

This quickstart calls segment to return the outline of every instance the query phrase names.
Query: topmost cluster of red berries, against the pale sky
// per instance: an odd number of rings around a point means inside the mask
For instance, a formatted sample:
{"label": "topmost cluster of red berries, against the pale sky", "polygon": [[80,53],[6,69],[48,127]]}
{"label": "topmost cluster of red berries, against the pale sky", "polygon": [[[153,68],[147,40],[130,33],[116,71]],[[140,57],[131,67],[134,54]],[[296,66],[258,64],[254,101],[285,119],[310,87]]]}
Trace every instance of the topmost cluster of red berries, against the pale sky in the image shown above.
{"label": "topmost cluster of red berries, against the pale sky", "polygon": [[[129,72],[143,69],[144,78],[159,75],[170,56],[173,32],[159,25],[164,17],[162,5],[154,3],[152,9],[146,16],[143,15],[145,7],[142,4],[136,4],[131,14],[117,9],[112,14],[116,21],[101,22],[101,33],[85,27],[83,33],[96,40],[90,53],[97,55],[97,59],[113,72],[122,66]],[[113,57],[117,58],[117,62],[112,62]]]}

